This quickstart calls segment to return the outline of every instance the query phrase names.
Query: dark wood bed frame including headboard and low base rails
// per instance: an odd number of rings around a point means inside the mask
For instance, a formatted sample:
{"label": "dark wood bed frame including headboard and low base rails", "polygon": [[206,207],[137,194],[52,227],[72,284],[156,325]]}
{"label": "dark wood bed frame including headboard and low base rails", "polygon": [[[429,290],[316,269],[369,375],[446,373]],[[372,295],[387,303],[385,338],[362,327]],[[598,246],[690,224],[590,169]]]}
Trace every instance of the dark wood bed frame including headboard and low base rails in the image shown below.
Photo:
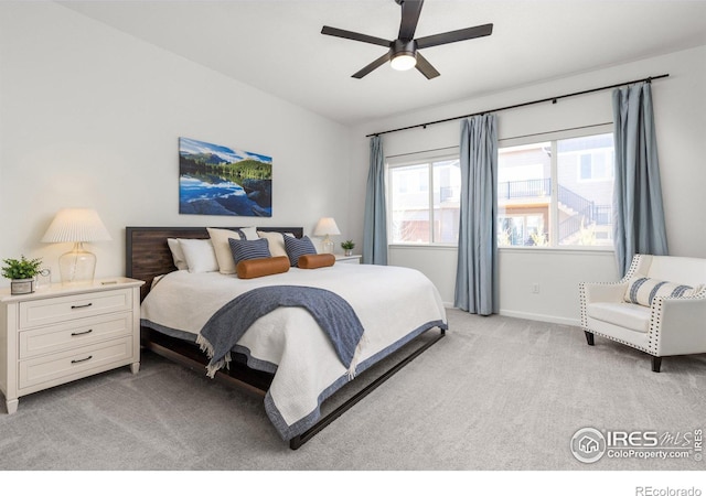
{"label": "dark wood bed frame including headboard and low base rails", "polygon": [[[223,227],[223,229],[237,229],[237,227]],[[258,227],[257,229],[269,233],[292,233],[298,238],[301,238],[303,235],[301,227]],[[140,290],[140,301],[149,293],[152,280],[157,276],[176,270],[167,244],[168,238],[207,239],[208,231],[205,227],[126,227],[126,276],[146,282]],[[429,330],[425,331],[413,341],[420,339]],[[439,334],[425,341],[422,345],[406,356],[402,356],[399,362],[334,410],[323,416],[308,431],[291,439],[289,441],[289,448],[292,450],[299,449],[303,443],[370,395],[379,385],[389,379],[445,335],[446,331],[439,328]],[[160,356],[185,365],[194,370],[203,371],[205,365],[208,363],[208,358],[195,343],[174,338],[148,327],[141,327],[141,345]],[[393,355],[402,354],[404,349],[405,347],[395,352]],[[361,375],[364,374],[365,371]],[[246,365],[245,357],[234,353],[229,368],[218,370],[215,378],[264,397],[272,381],[272,374],[249,368]]]}

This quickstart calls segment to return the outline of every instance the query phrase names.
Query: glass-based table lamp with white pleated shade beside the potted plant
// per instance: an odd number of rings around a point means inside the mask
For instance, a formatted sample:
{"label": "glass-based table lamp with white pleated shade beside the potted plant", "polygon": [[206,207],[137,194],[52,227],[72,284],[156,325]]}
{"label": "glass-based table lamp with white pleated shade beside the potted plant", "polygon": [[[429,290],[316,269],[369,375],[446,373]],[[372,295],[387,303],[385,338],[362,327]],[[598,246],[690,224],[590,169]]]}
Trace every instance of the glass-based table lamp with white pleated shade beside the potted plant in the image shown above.
{"label": "glass-based table lamp with white pleated shade beside the potted plant", "polygon": [[84,248],[87,241],[109,241],[108,229],[93,208],[63,208],[46,229],[42,242],[73,242],[74,248],[58,258],[62,284],[90,283],[96,256]]}

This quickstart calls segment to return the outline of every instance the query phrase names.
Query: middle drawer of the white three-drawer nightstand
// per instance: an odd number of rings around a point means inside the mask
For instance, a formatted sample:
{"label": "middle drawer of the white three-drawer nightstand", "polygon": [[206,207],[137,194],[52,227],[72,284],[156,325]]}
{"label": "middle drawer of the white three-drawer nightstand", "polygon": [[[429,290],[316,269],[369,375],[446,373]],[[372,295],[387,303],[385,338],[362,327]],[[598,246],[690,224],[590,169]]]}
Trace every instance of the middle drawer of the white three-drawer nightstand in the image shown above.
{"label": "middle drawer of the white three-drawer nightstand", "polygon": [[110,314],[22,331],[20,359],[132,334],[132,314]]}

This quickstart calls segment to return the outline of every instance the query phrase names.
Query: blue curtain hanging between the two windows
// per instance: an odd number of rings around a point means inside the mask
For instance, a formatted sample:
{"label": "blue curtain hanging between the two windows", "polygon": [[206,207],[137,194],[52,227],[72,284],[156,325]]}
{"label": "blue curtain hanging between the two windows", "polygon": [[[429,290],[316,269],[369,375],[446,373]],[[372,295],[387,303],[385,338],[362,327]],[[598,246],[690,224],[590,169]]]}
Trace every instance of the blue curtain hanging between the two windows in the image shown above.
{"label": "blue curtain hanging between the two windows", "polygon": [[453,304],[498,313],[498,130],[493,115],[461,122],[461,212]]}

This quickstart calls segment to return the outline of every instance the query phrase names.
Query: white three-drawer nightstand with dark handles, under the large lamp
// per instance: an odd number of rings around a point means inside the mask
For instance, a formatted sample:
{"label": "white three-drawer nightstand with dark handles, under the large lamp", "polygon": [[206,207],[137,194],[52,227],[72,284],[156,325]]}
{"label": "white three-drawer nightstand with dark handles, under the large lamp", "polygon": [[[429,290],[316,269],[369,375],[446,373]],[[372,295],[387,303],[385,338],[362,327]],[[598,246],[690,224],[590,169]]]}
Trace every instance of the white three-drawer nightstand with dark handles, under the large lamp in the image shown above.
{"label": "white three-drawer nightstand with dark handles, under the large lamp", "polygon": [[0,290],[0,391],[19,398],[129,365],[140,368],[140,287],[127,278],[52,284],[31,294]]}

